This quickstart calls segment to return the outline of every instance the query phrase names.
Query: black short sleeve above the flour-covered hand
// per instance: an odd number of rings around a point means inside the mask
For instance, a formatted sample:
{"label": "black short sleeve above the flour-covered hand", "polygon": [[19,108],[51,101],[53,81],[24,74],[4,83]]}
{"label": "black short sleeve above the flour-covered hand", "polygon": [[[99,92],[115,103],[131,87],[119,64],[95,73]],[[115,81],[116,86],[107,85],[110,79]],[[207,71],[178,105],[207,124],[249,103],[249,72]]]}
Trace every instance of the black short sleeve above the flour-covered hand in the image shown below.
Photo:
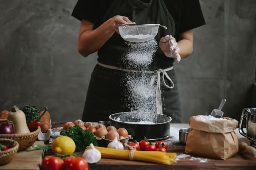
{"label": "black short sleeve above the flour-covered hand", "polygon": [[185,32],[205,24],[199,0],[183,1],[179,32]]}

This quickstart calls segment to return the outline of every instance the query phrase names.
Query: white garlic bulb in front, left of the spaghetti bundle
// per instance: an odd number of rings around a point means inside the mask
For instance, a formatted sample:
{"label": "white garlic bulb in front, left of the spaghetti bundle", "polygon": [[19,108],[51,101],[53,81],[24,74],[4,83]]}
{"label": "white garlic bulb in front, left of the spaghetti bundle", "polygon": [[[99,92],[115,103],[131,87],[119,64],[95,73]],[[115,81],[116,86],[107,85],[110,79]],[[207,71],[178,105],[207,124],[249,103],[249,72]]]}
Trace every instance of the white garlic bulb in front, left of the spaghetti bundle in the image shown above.
{"label": "white garlic bulb in front, left of the spaghetti bundle", "polygon": [[99,150],[95,149],[93,143],[91,143],[90,148],[84,151],[82,157],[86,162],[93,164],[100,161],[101,153]]}

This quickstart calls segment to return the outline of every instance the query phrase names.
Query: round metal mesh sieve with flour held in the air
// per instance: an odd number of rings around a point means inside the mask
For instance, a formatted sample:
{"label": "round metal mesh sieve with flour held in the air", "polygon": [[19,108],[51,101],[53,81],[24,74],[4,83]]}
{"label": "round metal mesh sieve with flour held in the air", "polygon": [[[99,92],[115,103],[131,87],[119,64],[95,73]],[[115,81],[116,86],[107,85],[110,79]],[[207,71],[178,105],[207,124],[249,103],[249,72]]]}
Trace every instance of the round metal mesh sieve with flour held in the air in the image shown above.
{"label": "round metal mesh sieve with flour held in the air", "polygon": [[167,29],[166,26],[160,24],[122,24],[117,26],[121,37],[133,43],[140,43],[155,38],[159,26]]}

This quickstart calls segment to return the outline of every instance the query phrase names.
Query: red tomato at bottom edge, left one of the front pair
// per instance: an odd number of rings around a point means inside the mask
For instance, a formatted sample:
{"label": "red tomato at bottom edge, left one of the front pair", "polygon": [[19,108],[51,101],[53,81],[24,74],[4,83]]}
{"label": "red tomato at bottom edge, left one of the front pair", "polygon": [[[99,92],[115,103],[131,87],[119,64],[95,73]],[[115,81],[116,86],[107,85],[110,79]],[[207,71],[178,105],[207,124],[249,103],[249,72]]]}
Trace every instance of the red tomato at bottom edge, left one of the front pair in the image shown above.
{"label": "red tomato at bottom edge, left one of the front pair", "polygon": [[45,156],[42,160],[42,170],[62,170],[64,160],[54,156]]}

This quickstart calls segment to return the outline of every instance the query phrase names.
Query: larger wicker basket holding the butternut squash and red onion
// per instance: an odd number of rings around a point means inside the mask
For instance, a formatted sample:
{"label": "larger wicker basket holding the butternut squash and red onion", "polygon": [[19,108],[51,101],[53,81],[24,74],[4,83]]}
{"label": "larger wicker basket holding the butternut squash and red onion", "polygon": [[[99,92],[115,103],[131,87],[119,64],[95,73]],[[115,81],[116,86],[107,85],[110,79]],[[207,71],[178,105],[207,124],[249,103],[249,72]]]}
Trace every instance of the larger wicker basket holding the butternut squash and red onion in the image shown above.
{"label": "larger wicker basket holding the butternut squash and red onion", "polygon": [[[0,120],[1,122],[1,120]],[[27,149],[35,140],[37,140],[38,134],[41,131],[40,126],[34,132],[25,133],[25,134],[0,134],[0,138],[7,138],[16,140],[19,143],[19,151]]]}

